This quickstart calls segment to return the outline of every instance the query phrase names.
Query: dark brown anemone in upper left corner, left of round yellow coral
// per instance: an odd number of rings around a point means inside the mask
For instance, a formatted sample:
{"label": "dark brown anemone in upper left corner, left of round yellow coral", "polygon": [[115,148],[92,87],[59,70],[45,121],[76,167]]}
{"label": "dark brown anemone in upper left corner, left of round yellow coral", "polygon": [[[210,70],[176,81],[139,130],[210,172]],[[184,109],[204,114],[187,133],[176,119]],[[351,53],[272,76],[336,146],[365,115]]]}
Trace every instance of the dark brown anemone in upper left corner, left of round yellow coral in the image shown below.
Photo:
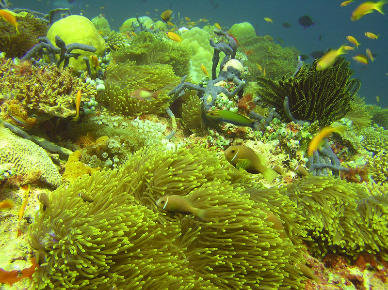
{"label": "dark brown anemone in upper left corner, left of round yellow coral", "polygon": [[6,21],[0,21],[0,51],[7,58],[22,58],[32,46],[38,43],[38,37],[46,36],[48,26],[42,20],[28,14],[17,17],[19,31]]}

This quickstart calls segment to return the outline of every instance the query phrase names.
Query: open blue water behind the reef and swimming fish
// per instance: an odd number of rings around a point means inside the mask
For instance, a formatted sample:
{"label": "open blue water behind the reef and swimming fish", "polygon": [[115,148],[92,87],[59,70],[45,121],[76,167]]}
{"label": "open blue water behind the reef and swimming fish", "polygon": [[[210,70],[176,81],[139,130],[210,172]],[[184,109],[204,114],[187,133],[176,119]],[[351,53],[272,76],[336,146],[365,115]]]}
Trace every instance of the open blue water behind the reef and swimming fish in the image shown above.
{"label": "open blue water behind the reef and swimming fish", "polygon": [[[55,8],[54,1],[49,0],[15,0],[11,1],[14,7],[29,8],[47,13]],[[67,1],[64,0],[64,3]],[[157,13],[171,9],[174,13],[180,12],[181,16],[188,16],[192,20],[205,17],[221,26],[230,27],[234,23],[250,22],[258,35],[278,36],[284,41],[284,46],[296,46],[302,54],[309,54],[316,50],[326,50],[329,47],[338,48],[347,43],[346,36],[352,35],[361,43],[356,52],[350,51],[345,57],[351,63],[355,71],[353,77],[361,79],[361,89],[358,94],[365,97],[367,104],[378,104],[381,107],[388,106],[388,14],[381,15],[374,12],[365,15],[358,21],[352,22],[350,15],[357,5],[364,1],[356,1],[346,7],[340,7],[342,0],[95,0],[76,1],[71,7],[73,14],[82,13],[88,18],[93,18],[101,13],[100,7],[105,6],[105,18],[115,30],[128,18],[146,15],[151,18]],[[88,7],[87,7],[88,5]],[[217,5],[217,8],[214,7]],[[83,12],[81,12],[81,9]],[[159,9],[159,12],[155,12]],[[388,13],[388,4],[384,10]],[[315,27],[304,29],[298,24],[298,18],[309,15],[316,21]],[[273,23],[267,23],[264,17],[273,19]],[[283,22],[289,22],[291,29],[281,26]],[[365,31],[381,34],[379,39],[368,39]],[[319,36],[322,40],[319,41]],[[352,60],[356,53],[366,54],[366,48],[377,54],[376,60],[366,67]],[[308,59],[311,61],[311,59]],[[376,96],[380,97],[380,103],[376,102]]]}

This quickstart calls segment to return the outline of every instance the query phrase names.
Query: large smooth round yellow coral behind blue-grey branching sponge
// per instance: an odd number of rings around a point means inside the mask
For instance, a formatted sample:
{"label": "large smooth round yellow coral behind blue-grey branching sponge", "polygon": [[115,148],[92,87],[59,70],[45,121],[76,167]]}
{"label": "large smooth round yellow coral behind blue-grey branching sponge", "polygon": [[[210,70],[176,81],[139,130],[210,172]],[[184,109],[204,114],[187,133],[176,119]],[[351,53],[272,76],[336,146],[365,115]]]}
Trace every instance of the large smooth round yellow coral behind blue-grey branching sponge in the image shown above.
{"label": "large smooth round yellow coral behind blue-grey branching sponge", "polygon": [[[70,15],[54,22],[49,31],[47,38],[55,45],[55,35],[59,35],[66,45],[71,43],[81,43],[88,46],[96,47],[96,52],[88,52],[80,49],[74,49],[72,52],[81,53],[78,60],[70,58],[70,64],[74,66],[74,72],[86,70],[84,56],[102,55],[105,51],[105,40],[96,30],[94,24],[86,17],[80,15]],[[57,57],[58,58],[58,57]]]}

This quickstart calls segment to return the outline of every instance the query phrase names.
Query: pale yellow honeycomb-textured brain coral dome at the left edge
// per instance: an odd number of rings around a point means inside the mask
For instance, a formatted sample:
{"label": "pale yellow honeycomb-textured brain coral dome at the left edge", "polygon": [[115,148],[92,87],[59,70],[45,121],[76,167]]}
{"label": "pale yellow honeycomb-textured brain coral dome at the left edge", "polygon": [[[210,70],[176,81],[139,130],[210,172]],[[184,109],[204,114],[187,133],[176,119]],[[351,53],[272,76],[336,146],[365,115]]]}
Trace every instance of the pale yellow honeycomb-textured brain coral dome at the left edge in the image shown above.
{"label": "pale yellow honeycomb-textured brain coral dome at the left edge", "polygon": [[12,171],[15,172],[10,178],[12,183],[24,184],[39,180],[58,187],[62,183],[61,176],[47,152],[30,140],[7,132],[0,137],[0,162],[12,164]]}

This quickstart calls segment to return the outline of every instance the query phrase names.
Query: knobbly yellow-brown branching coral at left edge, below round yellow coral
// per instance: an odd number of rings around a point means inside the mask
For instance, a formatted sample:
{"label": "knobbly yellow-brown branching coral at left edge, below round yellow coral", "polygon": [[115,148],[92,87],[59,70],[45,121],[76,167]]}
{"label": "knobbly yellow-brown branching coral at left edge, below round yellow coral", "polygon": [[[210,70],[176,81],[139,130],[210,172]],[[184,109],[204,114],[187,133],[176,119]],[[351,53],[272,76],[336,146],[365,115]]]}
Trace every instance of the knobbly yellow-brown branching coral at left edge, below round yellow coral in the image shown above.
{"label": "knobbly yellow-brown branching coral at left edge, below round yellow coral", "polygon": [[66,118],[76,113],[73,103],[78,90],[81,89],[83,100],[89,100],[97,93],[84,79],[72,76],[70,67],[35,67],[30,61],[16,64],[11,59],[1,58],[0,70],[3,113],[7,113],[7,107],[14,104],[29,116],[47,114]]}

